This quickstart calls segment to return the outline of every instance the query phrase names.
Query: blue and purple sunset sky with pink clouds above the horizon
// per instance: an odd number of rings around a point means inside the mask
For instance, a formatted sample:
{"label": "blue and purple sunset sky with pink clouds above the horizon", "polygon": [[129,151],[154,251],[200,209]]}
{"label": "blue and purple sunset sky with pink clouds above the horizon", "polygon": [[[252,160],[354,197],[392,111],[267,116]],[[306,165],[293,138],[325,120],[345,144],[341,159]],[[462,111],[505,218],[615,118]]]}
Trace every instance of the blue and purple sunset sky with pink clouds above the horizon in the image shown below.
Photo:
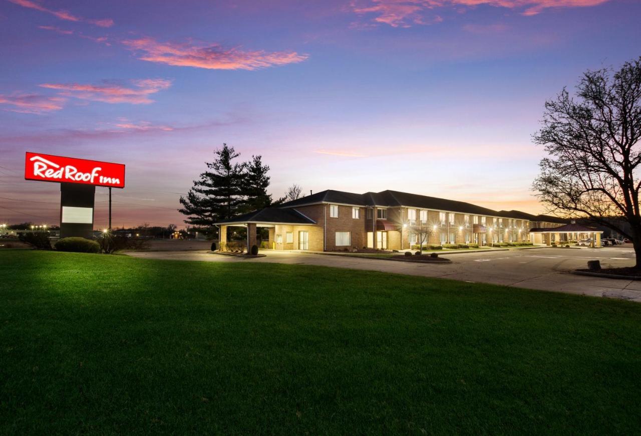
{"label": "blue and purple sunset sky with pink clouds above the horizon", "polygon": [[[125,163],[113,226],[178,224],[222,143],[271,194],[401,190],[545,212],[546,99],[641,55],[638,0],[0,0],[0,221],[58,224],[24,153]],[[96,228],[107,189],[96,189]]]}

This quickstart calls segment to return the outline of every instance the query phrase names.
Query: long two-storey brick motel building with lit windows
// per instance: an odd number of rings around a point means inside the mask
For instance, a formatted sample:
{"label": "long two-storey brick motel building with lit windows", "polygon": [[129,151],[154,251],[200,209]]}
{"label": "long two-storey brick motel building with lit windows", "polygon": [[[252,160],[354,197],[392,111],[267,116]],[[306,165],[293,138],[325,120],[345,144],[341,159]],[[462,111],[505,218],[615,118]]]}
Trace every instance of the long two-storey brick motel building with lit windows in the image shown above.
{"label": "long two-storey brick motel building with lit windows", "polygon": [[[344,251],[363,247],[404,250],[422,245],[529,241],[551,245],[595,230],[567,221],[517,210],[495,211],[463,201],[385,190],[354,194],[325,190],[218,222],[225,248],[230,226],[247,228],[247,249],[257,244],[256,229],[269,229],[268,246],[276,250]],[[579,228],[580,227],[580,228]],[[265,242],[265,241],[263,241]]]}

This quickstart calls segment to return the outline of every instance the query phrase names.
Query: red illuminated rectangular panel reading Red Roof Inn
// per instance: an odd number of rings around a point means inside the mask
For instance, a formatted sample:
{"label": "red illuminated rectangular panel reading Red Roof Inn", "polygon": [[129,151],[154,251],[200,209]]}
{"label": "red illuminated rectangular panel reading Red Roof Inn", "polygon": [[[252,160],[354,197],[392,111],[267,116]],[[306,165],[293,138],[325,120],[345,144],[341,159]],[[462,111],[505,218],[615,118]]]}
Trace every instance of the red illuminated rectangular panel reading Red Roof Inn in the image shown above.
{"label": "red illuminated rectangular panel reading Red Roof Inn", "polygon": [[24,178],[124,188],[124,165],[28,151],[24,160]]}

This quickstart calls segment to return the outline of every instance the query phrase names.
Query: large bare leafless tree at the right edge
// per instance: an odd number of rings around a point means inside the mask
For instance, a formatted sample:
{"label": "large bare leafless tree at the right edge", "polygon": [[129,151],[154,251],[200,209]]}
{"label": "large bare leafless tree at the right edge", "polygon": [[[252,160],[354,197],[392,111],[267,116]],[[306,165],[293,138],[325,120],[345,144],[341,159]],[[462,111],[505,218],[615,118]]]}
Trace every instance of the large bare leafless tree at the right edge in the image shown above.
{"label": "large bare leafless tree at the right edge", "polygon": [[[545,146],[533,183],[550,212],[587,217],[632,240],[641,269],[641,57],[587,71],[576,97],[563,88],[545,103],[535,142]],[[628,222],[628,226],[620,225]]]}

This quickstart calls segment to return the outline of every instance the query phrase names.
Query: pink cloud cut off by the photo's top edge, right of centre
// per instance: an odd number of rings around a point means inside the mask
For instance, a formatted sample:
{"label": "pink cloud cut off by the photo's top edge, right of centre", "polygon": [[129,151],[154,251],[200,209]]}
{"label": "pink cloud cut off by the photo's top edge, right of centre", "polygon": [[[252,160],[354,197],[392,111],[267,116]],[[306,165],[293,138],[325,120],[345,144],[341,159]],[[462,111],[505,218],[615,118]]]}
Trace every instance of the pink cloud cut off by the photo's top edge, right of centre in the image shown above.
{"label": "pink cloud cut off by the photo's top edge, right of centre", "polygon": [[522,15],[537,15],[548,8],[578,8],[597,6],[609,0],[367,0],[354,1],[353,12],[359,15],[374,14],[374,22],[392,27],[410,27],[412,24],[430,24],[442,21],[438,15],[426,19],[428,10],[452,7],[458,12],[463,7],[481,5],[520,10]]}

